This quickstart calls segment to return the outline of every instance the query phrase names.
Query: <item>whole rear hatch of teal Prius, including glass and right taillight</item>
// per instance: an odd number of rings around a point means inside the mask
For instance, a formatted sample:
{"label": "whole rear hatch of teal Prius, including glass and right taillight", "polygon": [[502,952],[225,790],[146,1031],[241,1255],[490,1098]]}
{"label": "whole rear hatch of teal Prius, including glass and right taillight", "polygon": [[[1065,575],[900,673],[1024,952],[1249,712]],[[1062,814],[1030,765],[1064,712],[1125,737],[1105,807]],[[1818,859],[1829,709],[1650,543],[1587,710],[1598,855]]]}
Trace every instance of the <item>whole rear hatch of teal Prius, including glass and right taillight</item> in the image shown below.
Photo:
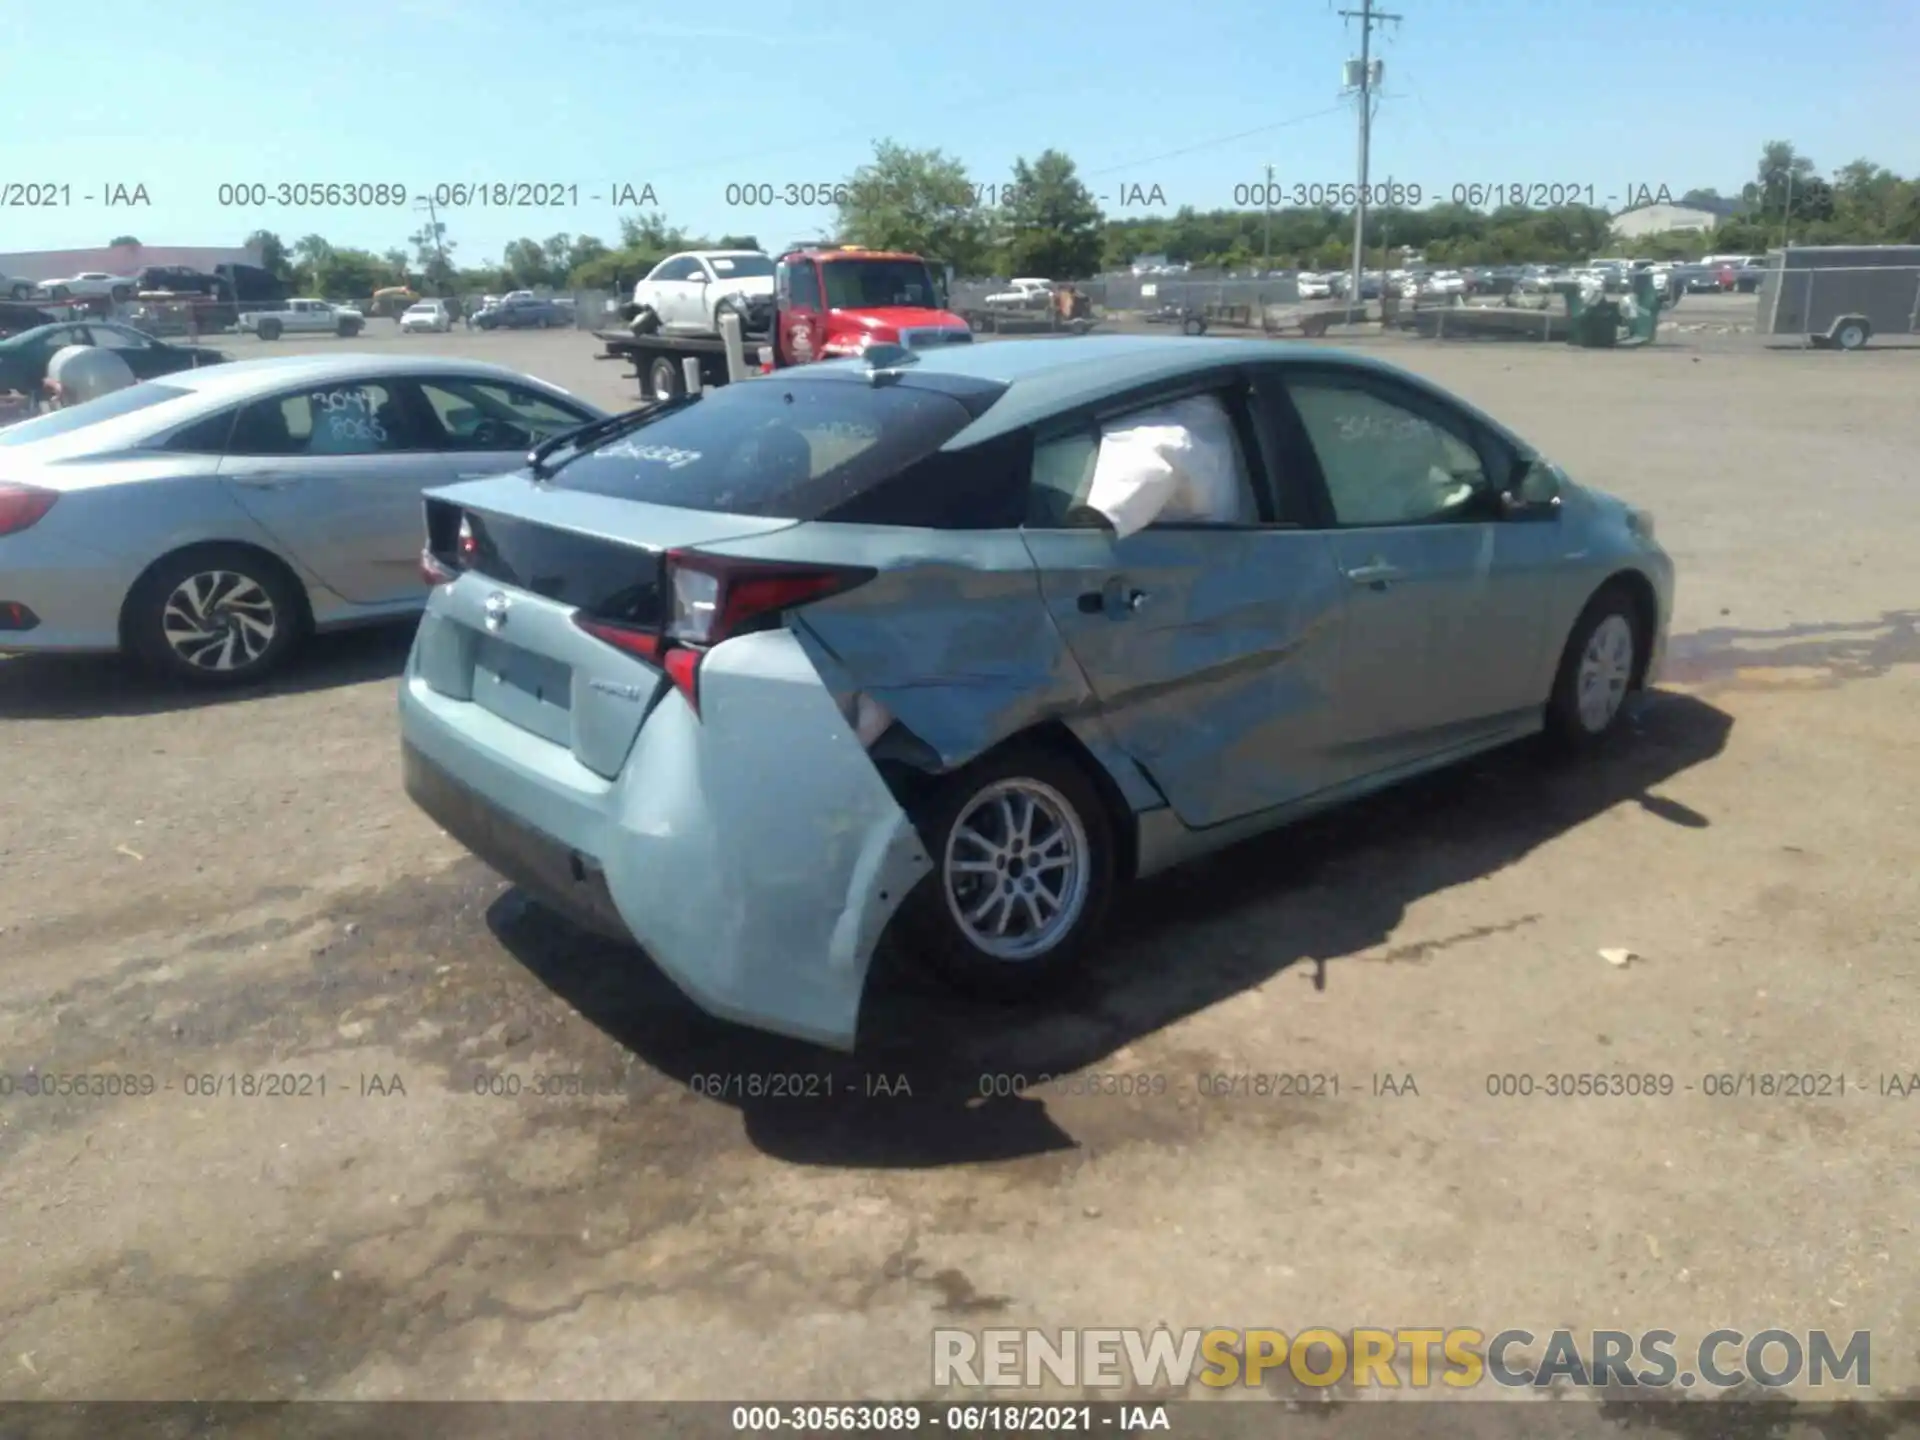
{"label": "whole rear hatch of teal Prius, including glass and right taillight", "polygon": [[[1002,390],[745,380],[559,451],[543,478],[430,490],[422,568],[440,584],[415,672],[612,778],[668,685],[693,703],[707,649],[856,584],[833,555],[793,545],[778,563],[747,559],[753,540],[912,490],[918,463]],[[722,545],[728,557],[701,553]]]}

